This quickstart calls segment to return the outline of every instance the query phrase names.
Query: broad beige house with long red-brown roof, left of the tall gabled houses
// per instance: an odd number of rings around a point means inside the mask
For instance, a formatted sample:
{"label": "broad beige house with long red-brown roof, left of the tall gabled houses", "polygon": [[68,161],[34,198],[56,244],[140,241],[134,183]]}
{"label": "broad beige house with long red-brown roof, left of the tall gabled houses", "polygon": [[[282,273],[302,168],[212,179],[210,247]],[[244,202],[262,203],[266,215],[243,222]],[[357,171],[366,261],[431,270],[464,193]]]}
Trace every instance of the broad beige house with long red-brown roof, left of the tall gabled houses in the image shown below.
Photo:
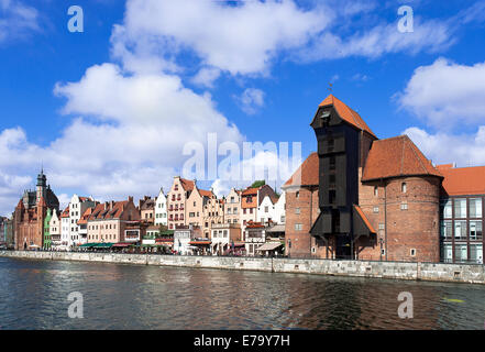
{"label": "broad beige house with long red-brown roof, left of the tall gabled houses", "polygon": [[[129,197],[124,201],[99,204],[87,220],[88,243],[124,242],[126,241],[126,228],[131,228],[134,223],[140,223],[140,211],[133,202],[133,197]],[[132,235],[131,232],[128,233],[129,237]]]}

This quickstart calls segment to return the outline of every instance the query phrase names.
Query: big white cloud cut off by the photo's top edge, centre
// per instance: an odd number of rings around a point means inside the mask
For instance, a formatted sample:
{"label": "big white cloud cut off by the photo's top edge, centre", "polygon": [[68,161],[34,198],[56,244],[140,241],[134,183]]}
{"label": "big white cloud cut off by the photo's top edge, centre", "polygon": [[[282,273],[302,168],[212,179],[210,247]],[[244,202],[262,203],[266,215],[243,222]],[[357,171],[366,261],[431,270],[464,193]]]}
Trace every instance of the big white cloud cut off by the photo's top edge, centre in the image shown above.
{"label": "big white cloud cut off by the photo's top edge, centre", "polygon": [[[162,67],[189,50],[202,66],[231,75],[264,74],[277,53],[305,45],[329,23],[322,6],[305,11],[291,0],[130,0],[124,25],[114,33],[115,54],[136,69],[135,57],[163,57]],[[119,33],[122,33],[120,35]]]}

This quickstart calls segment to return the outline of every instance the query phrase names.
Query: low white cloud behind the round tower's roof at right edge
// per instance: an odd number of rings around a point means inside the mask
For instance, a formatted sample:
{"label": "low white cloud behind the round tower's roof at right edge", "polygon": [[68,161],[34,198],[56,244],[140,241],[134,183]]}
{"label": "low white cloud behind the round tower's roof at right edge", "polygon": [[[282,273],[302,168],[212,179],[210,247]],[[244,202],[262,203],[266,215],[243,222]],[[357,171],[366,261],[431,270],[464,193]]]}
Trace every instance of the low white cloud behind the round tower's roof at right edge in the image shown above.
{"label": "low white cloud behind the round tower's roof at right edge", "polygon": [[473,134],[429,133],[415,127],[404,131],[404,134],[409,135],[433,164],[456,163],[461,167],[485,165],[485,125]]}

